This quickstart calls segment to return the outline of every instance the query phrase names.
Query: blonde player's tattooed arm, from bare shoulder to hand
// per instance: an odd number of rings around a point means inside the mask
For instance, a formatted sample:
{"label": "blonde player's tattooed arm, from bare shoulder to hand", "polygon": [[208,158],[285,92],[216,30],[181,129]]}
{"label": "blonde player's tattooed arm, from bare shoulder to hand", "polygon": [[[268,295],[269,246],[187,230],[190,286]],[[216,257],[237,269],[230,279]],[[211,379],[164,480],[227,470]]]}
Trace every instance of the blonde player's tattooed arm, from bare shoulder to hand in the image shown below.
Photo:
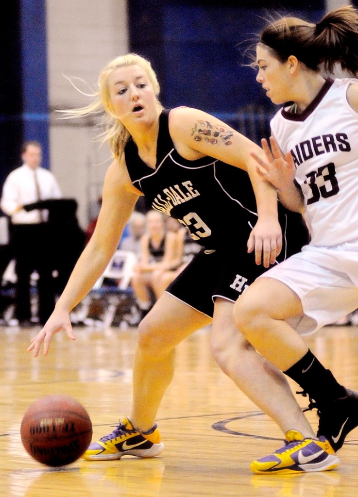
{"label": "blonde player's tattooed arm, from bare shoulder to hand", "polygon": [[259,220],[248,241],[248,251],[255,249],[257,264],[268,267],[281,251],[282,233],[277,219],[277,193],[257,170],[251,156],[265,159],[263,150],[227,124],[206,112],[192,108],[173,109],[170,132],[179,154],[188,160],[214,157],[249,173],[256,196]]}

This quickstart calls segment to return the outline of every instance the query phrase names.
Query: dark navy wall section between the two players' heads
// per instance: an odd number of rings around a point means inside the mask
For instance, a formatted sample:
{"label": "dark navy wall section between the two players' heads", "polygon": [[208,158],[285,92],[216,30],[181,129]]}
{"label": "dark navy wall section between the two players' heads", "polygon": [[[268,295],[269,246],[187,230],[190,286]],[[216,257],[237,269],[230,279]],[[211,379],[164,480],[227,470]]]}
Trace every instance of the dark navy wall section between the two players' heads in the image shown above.
{"label": "dark navy wall section between the two players' heads", "polygon": [[324,1],[282,4],[130,0],[130,50],[151,61],[166,107],[206,110],[259,142],[276,107],[255,81],[255,71],[244,66],[245,51],[274,12],[310,21],[325,12]]}

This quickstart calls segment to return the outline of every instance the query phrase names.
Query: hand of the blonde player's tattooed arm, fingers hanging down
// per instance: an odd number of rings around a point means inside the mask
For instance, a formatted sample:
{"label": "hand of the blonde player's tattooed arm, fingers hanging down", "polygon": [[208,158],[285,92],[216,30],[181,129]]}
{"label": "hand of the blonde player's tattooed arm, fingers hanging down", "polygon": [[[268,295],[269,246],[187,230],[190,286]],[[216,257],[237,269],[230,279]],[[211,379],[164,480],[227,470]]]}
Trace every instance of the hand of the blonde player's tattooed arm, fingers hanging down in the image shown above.
{"label": "hand of the blonde player's tattooed arm, fingers hanging down", "polygon": [[274,264],[282,249],[282,231],[277,219],[258,219],[248,243],[248,252],[255,250],[255,262],[264,267]]}

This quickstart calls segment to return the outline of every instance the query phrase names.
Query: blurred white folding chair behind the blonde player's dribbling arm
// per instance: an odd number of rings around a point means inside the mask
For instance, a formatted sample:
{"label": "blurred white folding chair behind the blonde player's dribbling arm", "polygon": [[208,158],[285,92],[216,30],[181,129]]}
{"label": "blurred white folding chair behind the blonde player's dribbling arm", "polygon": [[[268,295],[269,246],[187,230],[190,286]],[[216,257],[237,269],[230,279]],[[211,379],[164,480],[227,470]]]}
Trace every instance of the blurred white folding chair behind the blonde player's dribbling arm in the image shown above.
{"label": "blurred white folding chair behind the blonde player's dribbling arm", "polygon": [[74,324],[76,321],[85,325],[95,322],[101,327],[109,327],[118,315],[120,318],[130,314],[134,297],[129,284],[136,262],[137,258],[133,252],[116,250],[103,274],[82,301],[73,319]]}

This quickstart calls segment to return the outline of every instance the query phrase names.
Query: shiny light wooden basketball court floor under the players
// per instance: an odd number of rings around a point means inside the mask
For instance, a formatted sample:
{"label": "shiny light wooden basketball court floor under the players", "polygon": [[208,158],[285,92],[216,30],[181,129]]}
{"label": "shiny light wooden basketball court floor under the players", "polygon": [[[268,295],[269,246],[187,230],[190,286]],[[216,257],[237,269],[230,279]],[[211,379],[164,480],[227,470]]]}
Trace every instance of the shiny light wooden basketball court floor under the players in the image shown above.
{"label": "shiny light wooden basketball court floor under the players", "polygon": [[[20,440],[27,407],[44,395],[70,395],[89,412],[93,439],[112,431],[118,416],[130,412],[136,329],[77,328],[75,342],[58,333],[49,355],[34,359],[26,347],[37,331],[0,328],[1,496],[357,496],[358,429],[340,451],[336,471],[250,472],[253,459],[282,445],[282,434],[220,371],[209,351],[210,327],[178,346],[176,375],[157,419],[165,443],[160,457],[41,465]],[[339,381],[358,390],[357,327],[326,327],[307,342]],[[298,400],[307,405],[303,397]],[[316,414],[308,417],[316,426]]]}

